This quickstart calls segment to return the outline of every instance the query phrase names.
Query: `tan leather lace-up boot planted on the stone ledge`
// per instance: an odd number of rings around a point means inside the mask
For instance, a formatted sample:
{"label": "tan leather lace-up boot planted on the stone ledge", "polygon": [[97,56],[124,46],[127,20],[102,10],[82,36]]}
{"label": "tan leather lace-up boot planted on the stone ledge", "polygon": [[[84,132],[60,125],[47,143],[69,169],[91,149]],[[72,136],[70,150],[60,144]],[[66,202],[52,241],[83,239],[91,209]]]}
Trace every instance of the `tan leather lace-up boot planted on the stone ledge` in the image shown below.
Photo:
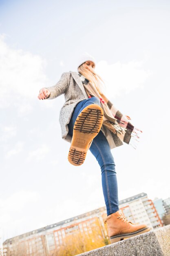
{"label": "tan leather lace-up boot planted on the stone ledge", "polygon": [[115,243],[139,234],[150,231],[150,227],[144,224],[135,225],[127,220],[120,211],[110,214],[104,223],[108,224],[108,236],[110,243]]}

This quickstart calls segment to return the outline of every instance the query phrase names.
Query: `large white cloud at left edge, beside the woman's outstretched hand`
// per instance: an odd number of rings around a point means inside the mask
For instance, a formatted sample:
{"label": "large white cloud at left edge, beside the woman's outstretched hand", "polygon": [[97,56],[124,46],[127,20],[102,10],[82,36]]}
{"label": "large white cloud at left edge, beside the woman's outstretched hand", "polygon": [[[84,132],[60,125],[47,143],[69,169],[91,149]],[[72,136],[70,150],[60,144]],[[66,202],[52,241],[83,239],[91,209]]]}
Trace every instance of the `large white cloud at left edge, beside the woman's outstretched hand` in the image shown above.
{"label": "large white cloud at left edge, beside the woman's outstretched hand", "polygon": [[[42,87],[49,84],[44,74],[46,60],[22,49],[12,49],[0,35],[0,108],[17,106],[20,113],[31,109]],[[28,102],[23,104],[23,99]]]}

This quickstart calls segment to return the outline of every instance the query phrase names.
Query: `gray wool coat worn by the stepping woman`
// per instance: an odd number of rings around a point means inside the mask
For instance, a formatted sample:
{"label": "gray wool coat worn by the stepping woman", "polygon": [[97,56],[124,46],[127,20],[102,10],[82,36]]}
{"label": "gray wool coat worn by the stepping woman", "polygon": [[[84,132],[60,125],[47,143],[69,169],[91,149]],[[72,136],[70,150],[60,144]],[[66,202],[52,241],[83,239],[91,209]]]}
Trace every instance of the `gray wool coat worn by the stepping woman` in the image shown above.
{"label": "gray wool coat worn by the stepping woman", "polygon": [[[84,99],[88,99],[88,95],[84,89],[84,85],[77,72],[69,71],[62,73],[60,80],[51,87],[46,87],[50,91],[47,99],[55,99],[64,94],[65,103],[60,110],[60,126],[62,131],[62,139],[71,143],[71,135],[68,134],[68,124],[71,115],[77,103]],[[107,128],[102,126],[101,130],[107,135]],[[112,145],[110,145],[112,148]]]}

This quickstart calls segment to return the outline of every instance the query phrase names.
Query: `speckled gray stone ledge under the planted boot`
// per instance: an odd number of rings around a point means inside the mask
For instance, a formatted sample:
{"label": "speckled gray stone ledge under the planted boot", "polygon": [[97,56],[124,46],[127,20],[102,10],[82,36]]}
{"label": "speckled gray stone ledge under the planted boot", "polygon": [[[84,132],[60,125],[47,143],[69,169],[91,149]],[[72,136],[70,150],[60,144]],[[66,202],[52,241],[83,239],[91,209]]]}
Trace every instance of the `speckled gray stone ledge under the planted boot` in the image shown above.
{"label": "speckled gray stone ledge under the planted boot", "polygon": [[170,256],[170,225],[77,256]]}

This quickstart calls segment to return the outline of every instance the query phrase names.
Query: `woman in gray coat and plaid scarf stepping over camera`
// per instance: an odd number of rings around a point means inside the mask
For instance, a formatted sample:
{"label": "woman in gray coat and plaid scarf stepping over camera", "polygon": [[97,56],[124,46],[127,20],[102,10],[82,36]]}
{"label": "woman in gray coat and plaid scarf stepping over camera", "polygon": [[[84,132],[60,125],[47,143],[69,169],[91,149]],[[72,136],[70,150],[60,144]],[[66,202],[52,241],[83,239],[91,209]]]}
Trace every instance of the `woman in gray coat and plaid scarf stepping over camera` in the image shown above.
{"label": "woman in gray coat and plaid scarf stepping over camera", "polygon": [[106,203],[108,236],[111,243],[150,230],[135,225],[119,211],[115,161],[111,148],[130,144],[137,128],[113,106],[102,92],[103,80],[95,72],[95,59],[85,52],[77,64],[78,72],[64,72],[60,81],[42,88],[38,99],[54,99],[61,94],[65,103],[60,111],[62,138],[71,143],[68,161],[84,163],[88,149],[97,159],[102,174],[102,189]]}

